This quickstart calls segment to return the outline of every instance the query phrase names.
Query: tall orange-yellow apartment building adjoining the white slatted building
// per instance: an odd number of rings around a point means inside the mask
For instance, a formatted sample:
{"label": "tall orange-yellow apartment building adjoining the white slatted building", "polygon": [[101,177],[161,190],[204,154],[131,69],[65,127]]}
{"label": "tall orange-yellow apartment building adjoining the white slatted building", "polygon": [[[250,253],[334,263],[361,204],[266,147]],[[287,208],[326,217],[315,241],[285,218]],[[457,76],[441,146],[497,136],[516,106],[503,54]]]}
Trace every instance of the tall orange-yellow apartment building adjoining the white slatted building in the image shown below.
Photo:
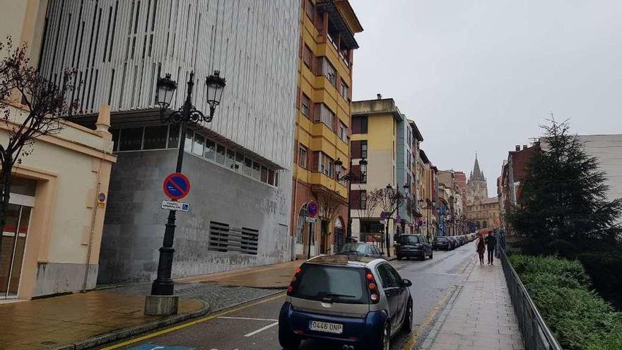
{"label": "tall orange-yellow apartment building adjoining the white slatted building", "polygon": [[[346,235],[348,187],[338,177],[349,170],[354,35],[363,27],[348,0],[303,0],[300,12],[291,227],[296,254],[318,255]],[[307,203],[327,197],[334,218],[320,210],[315,222],[305,219]]]}

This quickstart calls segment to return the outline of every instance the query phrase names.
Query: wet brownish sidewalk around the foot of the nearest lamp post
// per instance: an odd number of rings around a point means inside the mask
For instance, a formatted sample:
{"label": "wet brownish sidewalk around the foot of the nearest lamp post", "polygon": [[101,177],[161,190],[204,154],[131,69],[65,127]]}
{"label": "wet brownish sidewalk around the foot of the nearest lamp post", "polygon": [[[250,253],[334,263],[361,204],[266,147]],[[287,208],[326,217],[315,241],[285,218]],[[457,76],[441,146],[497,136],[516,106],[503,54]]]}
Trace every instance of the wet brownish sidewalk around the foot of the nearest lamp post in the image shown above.
{"label": "wet brownish sidewalk around the foot of the nearest lamp post", "polygon": [[280,293],[305,260],[175,281],[179,314],[143,315],[151,283],[0,304],[0,350],[81,349]]}

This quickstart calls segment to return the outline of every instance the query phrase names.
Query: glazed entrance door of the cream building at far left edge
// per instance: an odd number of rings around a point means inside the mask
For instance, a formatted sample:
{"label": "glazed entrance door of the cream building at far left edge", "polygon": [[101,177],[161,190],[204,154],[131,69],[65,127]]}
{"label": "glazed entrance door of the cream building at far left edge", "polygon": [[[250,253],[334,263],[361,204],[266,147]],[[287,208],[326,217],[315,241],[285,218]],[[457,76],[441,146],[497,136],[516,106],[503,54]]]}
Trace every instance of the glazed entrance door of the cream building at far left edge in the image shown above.
{"label": "glazed entrance door of the cream building at far left edge", "polygon": [[0,245],[0,299],[17,298],[35,197],[11,193]]}

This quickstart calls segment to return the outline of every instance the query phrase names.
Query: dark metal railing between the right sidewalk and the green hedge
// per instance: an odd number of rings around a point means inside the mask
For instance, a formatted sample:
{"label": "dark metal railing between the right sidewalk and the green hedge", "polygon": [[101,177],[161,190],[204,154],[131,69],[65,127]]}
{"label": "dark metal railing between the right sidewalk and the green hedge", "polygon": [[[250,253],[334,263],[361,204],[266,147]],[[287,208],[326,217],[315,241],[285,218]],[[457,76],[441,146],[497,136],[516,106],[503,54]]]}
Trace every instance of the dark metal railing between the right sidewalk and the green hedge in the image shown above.
{"label": "dark metal railing between the right sidewalk and the green hedge", "polygon": [[500,250],[500,259],[503,264],[505,282],[507,283],[508,291],[510,291],[510,298],[512,298],[512,305],[514,305],[514,313],[518,318],[518,325],[525,349],[563,350],[555,337],[553,337],[551,329],[548,329],[514,267],[507,260],[503,249]]}

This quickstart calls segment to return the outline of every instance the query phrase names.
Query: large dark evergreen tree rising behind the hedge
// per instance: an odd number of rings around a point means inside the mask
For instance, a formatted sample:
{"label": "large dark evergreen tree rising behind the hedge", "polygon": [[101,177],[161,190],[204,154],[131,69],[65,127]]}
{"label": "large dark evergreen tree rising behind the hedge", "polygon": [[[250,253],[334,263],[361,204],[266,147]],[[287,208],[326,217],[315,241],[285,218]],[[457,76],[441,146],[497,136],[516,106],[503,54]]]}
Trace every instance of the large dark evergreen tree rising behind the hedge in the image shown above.
{"label": "large dark evergreen tree rising behind the hedge", "polygon": [[554,119],[542,126],[541,149],[529,160],[519,205],[508,215],[526,238],[527,253],[573,258],[619,244],[622,199],[606,200],[605,173],[569,128]]}

